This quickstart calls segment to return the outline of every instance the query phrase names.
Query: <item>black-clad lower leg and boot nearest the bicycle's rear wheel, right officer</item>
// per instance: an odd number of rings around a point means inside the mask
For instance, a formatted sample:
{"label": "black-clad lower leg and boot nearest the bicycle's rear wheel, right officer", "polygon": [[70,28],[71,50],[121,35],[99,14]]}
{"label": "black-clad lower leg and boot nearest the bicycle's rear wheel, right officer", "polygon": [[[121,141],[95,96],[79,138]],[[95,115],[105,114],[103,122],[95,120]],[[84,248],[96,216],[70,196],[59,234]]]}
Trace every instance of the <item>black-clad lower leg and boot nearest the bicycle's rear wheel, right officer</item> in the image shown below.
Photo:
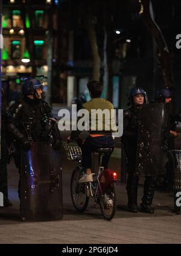
{"label": "black-clad lower leg and boot nearest the bicycle's rear wheel, right officer", "polygon": [[138,176],[135,173],[129,173],[127,179],[128,211],[138,212],[137,194],[138,194]]}

